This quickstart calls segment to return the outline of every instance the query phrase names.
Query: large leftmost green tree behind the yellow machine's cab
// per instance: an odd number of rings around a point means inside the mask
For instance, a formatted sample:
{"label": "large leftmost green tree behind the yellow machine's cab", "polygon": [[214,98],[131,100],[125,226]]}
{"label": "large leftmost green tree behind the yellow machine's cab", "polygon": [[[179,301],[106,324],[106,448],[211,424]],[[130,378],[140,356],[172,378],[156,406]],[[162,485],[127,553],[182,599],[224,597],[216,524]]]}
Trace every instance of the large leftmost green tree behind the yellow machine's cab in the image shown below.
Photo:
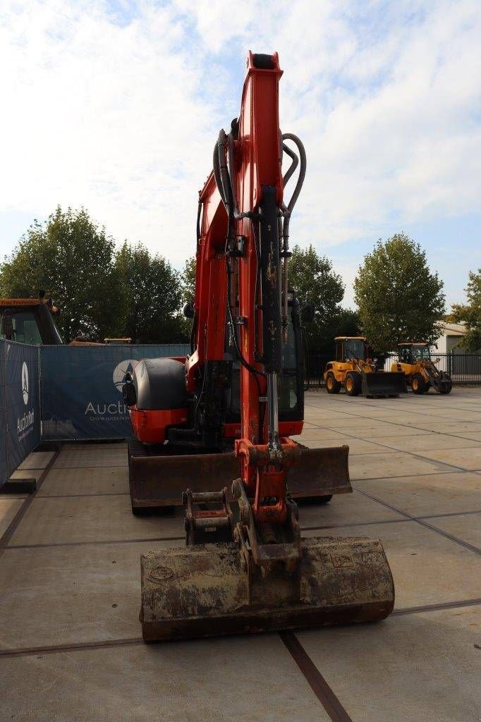
{"label": "large leftmost green tree behind the yellow machine's cab", "polygon": [[33,222],[1,264],[0,295],[35,297],[44,289],[61,308],[57,323],[66,342],[115,336],[123,309],[113,254],[113,239],[85,209],[58,206],[45,222]]}

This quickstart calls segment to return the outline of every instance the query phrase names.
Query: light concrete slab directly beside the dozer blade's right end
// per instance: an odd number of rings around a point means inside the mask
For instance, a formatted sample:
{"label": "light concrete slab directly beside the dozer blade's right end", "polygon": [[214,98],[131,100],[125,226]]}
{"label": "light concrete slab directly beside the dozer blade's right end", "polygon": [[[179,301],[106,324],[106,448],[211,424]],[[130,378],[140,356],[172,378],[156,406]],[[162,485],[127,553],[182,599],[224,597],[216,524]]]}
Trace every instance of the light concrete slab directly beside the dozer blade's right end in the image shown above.
{"label": "light concrete slab directly beside the dozer blade's right end", "polygon": [[403,477],[408,474],[435,474],[443,466],[435,461],[424,461],[402,451],[357,454],[350,458],[351,480]]}

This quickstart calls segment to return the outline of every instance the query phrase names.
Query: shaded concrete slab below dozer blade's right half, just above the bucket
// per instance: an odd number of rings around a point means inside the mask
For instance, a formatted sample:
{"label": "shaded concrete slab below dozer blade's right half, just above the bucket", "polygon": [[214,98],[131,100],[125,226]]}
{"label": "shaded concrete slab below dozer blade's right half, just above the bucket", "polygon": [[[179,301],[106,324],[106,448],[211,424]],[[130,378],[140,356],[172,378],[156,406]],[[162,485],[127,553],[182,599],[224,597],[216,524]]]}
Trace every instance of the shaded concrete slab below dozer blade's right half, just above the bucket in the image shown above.
{"label": "shaded concrete slab below dozer blade's right half, just above the bucket", "polygon": [[[382,504],[372,501],[356,491],[352,494],[336,495],[328,504],[311,505],[298,502],[298,507],[301,529],[306,526],[331,528],[345,524],[368,524],[374,521],[393,521],[404,518],[401,514],[387,509]],[[352,534],[355,534],[355,531],[352,531]]]}

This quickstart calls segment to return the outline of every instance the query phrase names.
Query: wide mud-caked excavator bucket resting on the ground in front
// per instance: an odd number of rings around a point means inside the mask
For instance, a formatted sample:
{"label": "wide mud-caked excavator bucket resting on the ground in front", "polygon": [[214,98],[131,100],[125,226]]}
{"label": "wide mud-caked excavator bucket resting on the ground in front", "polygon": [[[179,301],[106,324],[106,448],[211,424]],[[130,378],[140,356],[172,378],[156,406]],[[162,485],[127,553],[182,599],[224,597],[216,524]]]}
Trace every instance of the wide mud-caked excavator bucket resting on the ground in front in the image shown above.
{"label": "wide mud-caked excavator bucket resting on the ground in front", "polygon": [[320,627],[384,619],[394,583],[379,539],[301,541],[298,570],[248,575],[233,542],[144,554],[144,640]]}

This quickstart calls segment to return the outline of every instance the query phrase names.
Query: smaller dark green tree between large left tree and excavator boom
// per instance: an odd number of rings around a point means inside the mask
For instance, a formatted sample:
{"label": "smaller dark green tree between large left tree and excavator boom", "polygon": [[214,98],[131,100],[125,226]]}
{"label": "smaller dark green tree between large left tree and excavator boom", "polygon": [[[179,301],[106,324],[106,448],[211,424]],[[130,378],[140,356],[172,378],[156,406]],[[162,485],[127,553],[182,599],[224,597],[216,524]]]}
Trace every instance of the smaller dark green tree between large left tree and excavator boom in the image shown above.
{"label": "smaller dark green tree between large left tree and excavator boom", "polygon": [[142,243],[124,242],[116,256],[116,271],[123,282],[123,333],[139,344],[183,341],[181,287],[170,263],[152,256]]}

